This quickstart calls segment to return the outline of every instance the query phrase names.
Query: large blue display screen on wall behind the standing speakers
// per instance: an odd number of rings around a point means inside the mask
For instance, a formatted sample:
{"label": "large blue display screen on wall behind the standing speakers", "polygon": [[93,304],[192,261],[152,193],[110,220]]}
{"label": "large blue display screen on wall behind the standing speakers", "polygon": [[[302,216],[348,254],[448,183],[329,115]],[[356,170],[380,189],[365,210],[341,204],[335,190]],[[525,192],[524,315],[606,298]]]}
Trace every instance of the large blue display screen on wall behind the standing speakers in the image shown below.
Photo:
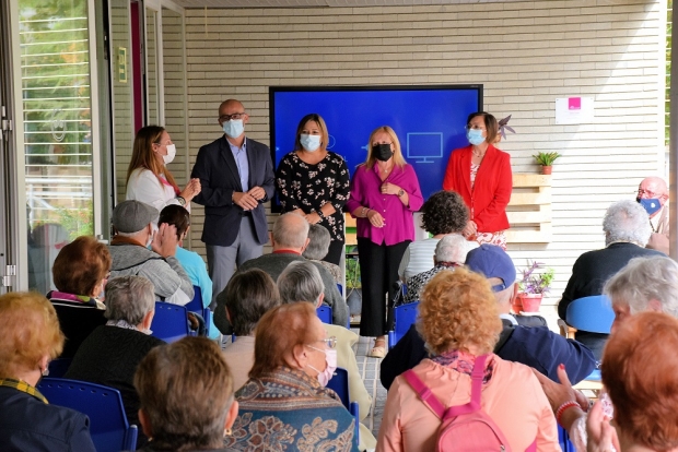
{"label": "large blue display screen on wall behind the standing speakers", "polygon": [[424,199],[443,188],[452,150],[468,145],[468,115],[482,110],[482,85],[271,86],[269,95],[276,167],[294,150],[296,127],[308,114],[325,119],[327,148],[343,156],[351,175],[366,159],[370,133],[390,126]]}

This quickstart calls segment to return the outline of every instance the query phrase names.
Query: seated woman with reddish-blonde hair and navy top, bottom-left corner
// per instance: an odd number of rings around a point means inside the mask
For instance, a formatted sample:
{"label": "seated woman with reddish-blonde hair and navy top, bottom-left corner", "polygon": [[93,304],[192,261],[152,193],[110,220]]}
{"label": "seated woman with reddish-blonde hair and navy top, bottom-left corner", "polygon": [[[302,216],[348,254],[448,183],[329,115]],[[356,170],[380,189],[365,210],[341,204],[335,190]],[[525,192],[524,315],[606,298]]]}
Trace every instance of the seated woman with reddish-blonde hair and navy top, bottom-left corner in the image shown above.
{"label": "seated woman with reddish-blonde hair and navy top, bottom-left corner", "polygon": [[96,451],[90,420],[48,405],[35,386],[63,347],[55,308],[35,293],[0,296],[0,444],[2,451]]}

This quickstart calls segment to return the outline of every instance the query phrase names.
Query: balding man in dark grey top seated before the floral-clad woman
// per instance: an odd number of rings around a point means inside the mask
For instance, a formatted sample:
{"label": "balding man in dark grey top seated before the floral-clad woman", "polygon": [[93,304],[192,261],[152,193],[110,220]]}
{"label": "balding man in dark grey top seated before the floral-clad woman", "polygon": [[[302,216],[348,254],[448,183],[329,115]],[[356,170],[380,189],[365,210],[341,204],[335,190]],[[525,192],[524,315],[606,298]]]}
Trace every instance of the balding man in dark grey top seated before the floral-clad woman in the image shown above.
{"label": "balding man in dark grey top seated before the floral-clad woman", "polygon": [[[261,269],[276,281],[290,262],[305,261],[306,259],[302,255],[302,252],[308,245],[308,222],[295,213],[280,215],[273,225],[271,242],[273,245],[272,253],[246,261],[238,267],[238,272],[249,269]],[[323,285],[325,286],[323,302],[332,308],[332,323],[346,325],[348,306],[341,294],[339,294],[335,278],[319,263],[314,262],[314,265],[320,272]],[[214,316],[217,316],[217,312]],[[217,320],[214,320],[214,323],[217,323]]]}

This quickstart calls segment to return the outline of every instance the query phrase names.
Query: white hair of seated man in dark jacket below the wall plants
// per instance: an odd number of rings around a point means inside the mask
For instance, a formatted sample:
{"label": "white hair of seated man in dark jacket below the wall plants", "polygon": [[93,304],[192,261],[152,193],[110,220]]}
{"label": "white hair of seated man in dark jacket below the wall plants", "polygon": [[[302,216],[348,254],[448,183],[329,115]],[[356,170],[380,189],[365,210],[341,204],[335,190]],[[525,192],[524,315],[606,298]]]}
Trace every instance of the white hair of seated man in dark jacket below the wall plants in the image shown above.
{"label": "white hair of seated man in dark jacket below the wall plants", "polygon": [[603,218],[606,245],[613,241],[632,241],[641,247],[647,245],[652,226],[647,212],[635,201],[618,201],[609,206]]}

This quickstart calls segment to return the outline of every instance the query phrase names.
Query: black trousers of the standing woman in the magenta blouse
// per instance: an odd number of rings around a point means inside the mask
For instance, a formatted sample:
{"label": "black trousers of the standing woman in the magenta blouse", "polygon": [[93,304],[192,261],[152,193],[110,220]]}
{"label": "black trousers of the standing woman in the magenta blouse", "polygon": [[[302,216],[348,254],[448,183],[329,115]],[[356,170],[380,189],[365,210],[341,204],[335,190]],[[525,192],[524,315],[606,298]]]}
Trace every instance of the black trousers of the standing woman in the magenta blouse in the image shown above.
{"label": "black trousers of the standing woman in the magenta blouse", "polygon": [[[410,240],[396,245],[376,245],[367,238],[358,239],[360,278],[363,289],[363,309],[360,317],[360,335],[376,337],[388,333],[393,320],[390,301],[396,296],[398,265]],[[388,300],[386,295],[388,294]]]}

